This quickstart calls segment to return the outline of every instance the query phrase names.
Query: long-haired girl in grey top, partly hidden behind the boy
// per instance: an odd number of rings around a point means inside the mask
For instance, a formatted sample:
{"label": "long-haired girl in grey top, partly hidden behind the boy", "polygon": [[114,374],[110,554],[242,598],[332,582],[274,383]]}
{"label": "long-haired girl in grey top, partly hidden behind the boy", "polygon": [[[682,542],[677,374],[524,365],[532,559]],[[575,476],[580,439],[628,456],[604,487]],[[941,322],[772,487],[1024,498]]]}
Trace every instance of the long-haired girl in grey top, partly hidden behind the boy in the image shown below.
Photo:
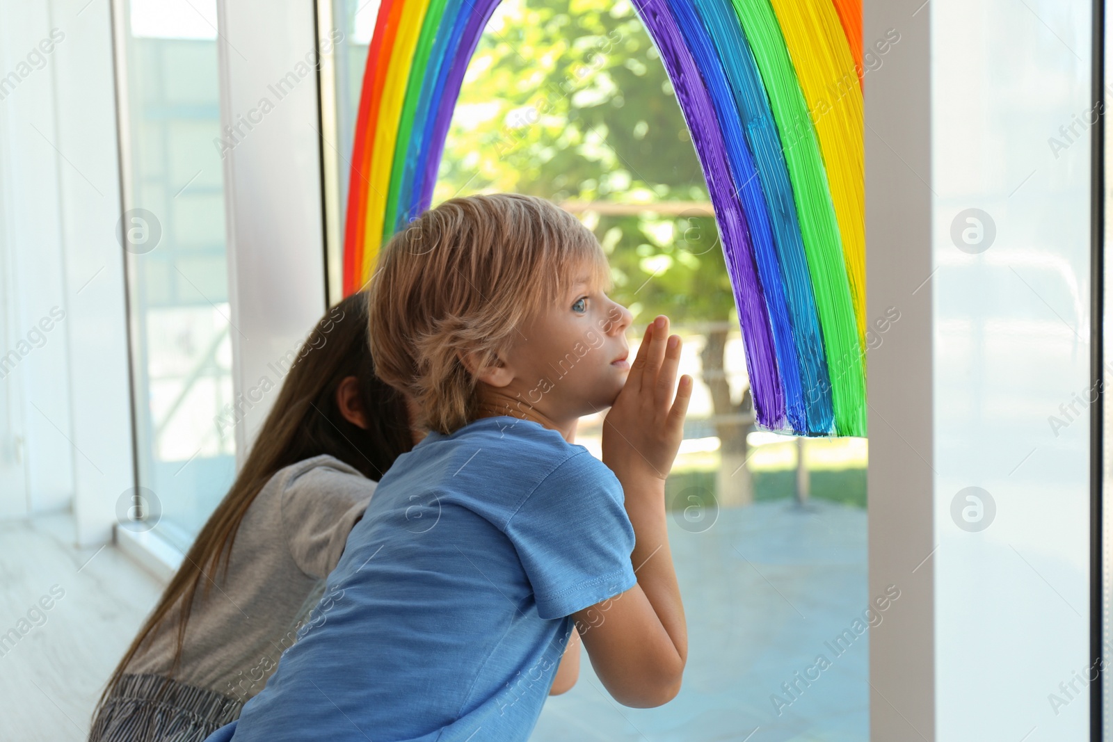
{"label": "long-haired girl in grey top, partly hidden behind the boy", "polygon": [[89,742],[204,740],[239,715],[376,482],[421,439],[411,409],[375,377],[366,295],[349,296],[306,338],[232,489],[112,673]]}

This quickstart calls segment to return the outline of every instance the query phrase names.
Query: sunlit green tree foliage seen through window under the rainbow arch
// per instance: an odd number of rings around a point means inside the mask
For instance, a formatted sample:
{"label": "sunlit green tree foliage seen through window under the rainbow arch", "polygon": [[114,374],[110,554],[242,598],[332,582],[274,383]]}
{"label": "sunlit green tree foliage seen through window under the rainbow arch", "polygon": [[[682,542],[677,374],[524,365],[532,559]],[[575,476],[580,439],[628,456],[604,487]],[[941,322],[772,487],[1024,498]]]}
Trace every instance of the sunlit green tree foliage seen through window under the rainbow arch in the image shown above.
{"label": "sunlit green tree foliage seen through window under the rainbow arch", "polygon": [[[434,200],[492,191],[706,205],[672,87],[627,0],[500,6],[464,78]],[[610,256],[612,298],[636,321],[731,318],[713,219],[682,211],[581,218]]]}

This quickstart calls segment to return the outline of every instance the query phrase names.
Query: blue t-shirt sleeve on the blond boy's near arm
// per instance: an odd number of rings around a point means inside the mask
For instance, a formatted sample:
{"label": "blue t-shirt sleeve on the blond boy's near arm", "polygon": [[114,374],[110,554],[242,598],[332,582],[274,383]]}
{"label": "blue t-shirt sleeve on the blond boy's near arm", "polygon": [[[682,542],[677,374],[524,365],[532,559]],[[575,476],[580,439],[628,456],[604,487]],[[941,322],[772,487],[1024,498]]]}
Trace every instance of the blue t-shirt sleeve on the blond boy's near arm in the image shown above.
{"label": "blue t-shirt sleeve on the blond boy's near arm", "polygon": [[506,524],[533,587],[538,615],[561,619],[638,582],[630,563],[633,526],[622,485],[584,451],[569,457]]}

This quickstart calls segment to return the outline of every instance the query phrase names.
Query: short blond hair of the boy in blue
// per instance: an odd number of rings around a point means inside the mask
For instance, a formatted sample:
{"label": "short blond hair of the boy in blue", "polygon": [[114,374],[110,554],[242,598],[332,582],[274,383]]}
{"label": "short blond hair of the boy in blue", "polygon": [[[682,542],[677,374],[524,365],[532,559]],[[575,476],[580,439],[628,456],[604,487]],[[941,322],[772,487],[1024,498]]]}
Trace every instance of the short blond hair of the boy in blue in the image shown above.
{"label": "short blond hair of the boy in blue", "polygon": [[451,434],[479,416],[476,377],[571,289],[582,264],[611,287],[595,236],[542,198],[467,196],[425,211],[383,247],[371,279],[375,373],[418,403],[422,425]]}

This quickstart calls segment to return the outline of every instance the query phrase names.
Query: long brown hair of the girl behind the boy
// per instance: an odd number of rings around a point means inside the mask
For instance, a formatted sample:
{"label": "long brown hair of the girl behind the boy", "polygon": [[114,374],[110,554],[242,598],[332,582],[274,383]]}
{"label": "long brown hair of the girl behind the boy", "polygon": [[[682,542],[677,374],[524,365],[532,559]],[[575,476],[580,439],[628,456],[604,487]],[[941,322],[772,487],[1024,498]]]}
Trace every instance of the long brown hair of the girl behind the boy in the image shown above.
{"label": "long brown hair of the girl behind the boy", "polygon": [[[213,581],[228,571],[236,532],[263,485],[280,468],[321,454],[331,454],[368,478],[378,481],[394,459],[413,448],[405,398],[375,376],[367,338],[367,298],[359,291],[339,301],[322,317],[297,353],[286,380],[232,488],[213,511],[186,554],[162,597],[109,679],[96,718],[142,643],[178,611],[177,645],[170,676],[181,661],[186,623],[198,586],[201,600]],[[288,356],[287,356],[288,357]],[[367,427],[345,418],[336,404],[336,388],[347,376],[359,383],[359,400]]]}

